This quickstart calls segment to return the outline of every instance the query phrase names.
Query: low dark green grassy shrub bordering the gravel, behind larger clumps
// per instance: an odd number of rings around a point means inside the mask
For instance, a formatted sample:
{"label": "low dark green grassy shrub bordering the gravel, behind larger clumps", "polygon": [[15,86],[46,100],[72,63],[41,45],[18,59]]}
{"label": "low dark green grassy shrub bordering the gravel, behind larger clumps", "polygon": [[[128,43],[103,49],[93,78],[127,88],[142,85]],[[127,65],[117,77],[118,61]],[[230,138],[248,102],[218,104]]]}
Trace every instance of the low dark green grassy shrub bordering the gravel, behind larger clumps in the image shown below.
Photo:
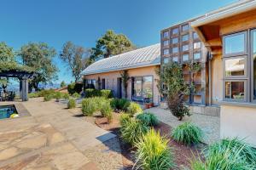
{"label": "low dark green grassy shrub bordering the gravel, behind larger clumps", "polygon": [[137,120],[139,120],[140,122],[143,122],[148,127],[154,127],[159,123],[157,117],[150,112],[148,113],[144,112],[142,114],[138,114],[136,118]]}

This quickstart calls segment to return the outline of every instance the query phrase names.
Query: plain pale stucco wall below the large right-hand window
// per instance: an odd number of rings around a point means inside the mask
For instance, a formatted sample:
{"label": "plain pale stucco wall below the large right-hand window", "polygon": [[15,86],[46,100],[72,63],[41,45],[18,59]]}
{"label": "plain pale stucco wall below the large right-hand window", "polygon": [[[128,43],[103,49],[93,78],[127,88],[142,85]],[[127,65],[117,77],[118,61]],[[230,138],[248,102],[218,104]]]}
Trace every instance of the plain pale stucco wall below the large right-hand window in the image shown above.
{"label": "plain pale stucco wall below the large right-hand window", "polygon": [[256,108],[221,105],[220,135],[221,138],[246,138],[256,146]]}

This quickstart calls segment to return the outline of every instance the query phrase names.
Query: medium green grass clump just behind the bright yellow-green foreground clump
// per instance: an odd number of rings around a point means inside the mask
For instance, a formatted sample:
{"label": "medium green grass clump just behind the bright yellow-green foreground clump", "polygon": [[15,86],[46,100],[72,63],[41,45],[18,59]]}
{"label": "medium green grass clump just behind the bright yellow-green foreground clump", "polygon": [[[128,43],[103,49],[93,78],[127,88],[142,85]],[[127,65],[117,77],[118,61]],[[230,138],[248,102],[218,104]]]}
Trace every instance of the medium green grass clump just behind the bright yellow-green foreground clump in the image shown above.
{"label": "medium green grass clump just behind the bright yellow-green foreground clump", "polygon": [[135,146],[135,144],[142,139],[143,134],[148,132],[148,127],[137,120],[131,119],[121,126],[120,131],[122,139],[124,139],[126,143]]}

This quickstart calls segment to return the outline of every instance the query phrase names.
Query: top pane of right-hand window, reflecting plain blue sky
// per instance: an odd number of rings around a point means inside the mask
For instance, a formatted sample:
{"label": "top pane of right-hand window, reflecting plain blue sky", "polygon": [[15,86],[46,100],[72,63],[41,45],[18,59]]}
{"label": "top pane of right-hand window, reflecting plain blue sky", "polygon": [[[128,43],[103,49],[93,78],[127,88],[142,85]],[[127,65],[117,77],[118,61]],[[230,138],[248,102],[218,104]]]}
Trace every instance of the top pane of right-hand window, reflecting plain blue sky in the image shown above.
{"label": "top pane of right-hand window, reflecting plain blue sky", "polygon": [[245,33],[224,37],[224,54],[237,54],[245,52]]}

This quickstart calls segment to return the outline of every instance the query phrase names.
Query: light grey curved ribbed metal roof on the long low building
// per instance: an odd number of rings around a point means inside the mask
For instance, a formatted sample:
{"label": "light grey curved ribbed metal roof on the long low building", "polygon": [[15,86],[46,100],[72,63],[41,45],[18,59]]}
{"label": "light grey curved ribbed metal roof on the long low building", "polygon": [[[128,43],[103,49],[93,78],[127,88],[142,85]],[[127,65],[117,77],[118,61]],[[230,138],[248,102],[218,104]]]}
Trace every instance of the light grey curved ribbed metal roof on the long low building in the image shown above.
{"label": "light grey curved ribbed metal roof on the long low building", "polygon": [[81,75],[122,71],[151,65],[160,65],[160,43],[98,60],[84,69]]}

